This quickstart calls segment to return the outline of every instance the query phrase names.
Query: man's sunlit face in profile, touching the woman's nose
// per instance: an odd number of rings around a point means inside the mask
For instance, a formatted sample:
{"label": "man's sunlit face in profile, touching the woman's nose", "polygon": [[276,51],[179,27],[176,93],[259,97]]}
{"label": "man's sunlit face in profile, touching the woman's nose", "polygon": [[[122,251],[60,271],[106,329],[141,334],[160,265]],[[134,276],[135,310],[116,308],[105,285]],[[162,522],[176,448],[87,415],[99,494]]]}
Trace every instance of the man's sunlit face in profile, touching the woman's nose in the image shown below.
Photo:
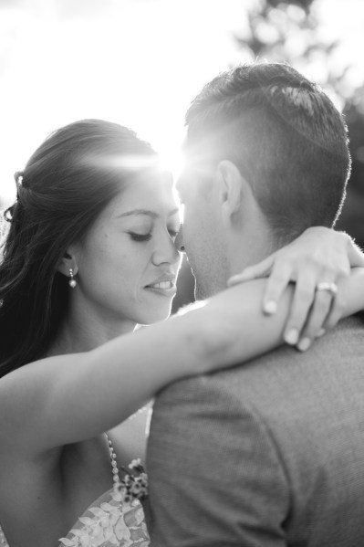
{"label": "man's sunlit face in profile, touching the woman's nose", "polygon": [[186,167],[177,183],[184,205],[181,242],[196,279],[196,298],[225,289],[229,277],[221,210],[214,192],[213,170]]}

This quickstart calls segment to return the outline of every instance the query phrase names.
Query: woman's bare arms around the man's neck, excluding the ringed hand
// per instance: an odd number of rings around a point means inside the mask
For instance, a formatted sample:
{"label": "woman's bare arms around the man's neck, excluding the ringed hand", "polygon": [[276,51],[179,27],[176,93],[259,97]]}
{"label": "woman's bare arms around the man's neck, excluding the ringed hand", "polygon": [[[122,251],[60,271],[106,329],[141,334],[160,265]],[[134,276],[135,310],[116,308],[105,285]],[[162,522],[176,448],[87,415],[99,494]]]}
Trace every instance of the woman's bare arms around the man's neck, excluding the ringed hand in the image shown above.
{"label": "woman's bare arms around the man's neck, excluding the ringed hand", "polygon": [[[350,289],[350,283],[351,289]],[[293,287],[274,316],[261,310],[265,279],[91,352],[30,363],[0,382],[0,442],[29,456],[98,435],[184,376],[244,362],[283,342]],[[364,273],[343,280],[343,315],[364,307]],[[193,308],[193,307],[192,307]]]}

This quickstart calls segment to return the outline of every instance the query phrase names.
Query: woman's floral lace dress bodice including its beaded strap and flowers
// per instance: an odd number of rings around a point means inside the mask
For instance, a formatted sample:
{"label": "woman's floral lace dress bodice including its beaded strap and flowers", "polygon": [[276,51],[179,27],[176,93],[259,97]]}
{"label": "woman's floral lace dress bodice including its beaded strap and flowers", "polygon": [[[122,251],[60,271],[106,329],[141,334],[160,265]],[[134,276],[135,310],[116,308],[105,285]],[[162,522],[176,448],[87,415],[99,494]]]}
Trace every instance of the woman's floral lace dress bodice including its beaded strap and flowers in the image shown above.
{"label": "woman's floral lace dress bodice including its beaded strap and flowers", "polygon": [[[139,473],[126,474],[120,481],[116,455],[109,440],[114,486],[95,500],[68,531],[59,538],[58,547],[149,547],[150,539],[140,499],[145,493],[145,473],[134,460],[130,469]],[[0,547],[10,547],[0,524]]]}

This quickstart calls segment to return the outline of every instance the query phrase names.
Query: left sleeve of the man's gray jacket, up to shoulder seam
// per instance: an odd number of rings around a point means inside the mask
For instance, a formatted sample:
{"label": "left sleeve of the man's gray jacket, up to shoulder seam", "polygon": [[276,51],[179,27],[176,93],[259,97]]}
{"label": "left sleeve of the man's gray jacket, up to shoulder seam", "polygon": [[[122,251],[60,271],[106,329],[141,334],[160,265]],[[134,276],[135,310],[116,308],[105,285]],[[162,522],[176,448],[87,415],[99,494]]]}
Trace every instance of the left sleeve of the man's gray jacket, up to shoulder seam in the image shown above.
{"label": "left sleeve of the man's gray jacket, up to shoulder seam", "polygon": [[157,399],[147,455],[152,547],[286,545],[279,455],[225,376],[179,382]]}

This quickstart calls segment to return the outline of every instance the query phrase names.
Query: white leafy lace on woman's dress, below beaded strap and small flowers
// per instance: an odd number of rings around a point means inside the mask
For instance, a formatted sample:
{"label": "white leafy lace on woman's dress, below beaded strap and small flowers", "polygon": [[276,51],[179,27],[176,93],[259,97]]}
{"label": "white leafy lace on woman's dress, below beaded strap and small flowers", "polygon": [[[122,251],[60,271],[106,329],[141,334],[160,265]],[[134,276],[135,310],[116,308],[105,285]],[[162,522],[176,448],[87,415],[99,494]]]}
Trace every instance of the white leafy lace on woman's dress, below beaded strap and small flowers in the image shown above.
{"label": "white leafy lace on woman's dress, below beaded strap and small flowers", "polygon": [[110,490],[78,519],[59,547],[149,547],[150,539],[140,501],[121,501]]}

